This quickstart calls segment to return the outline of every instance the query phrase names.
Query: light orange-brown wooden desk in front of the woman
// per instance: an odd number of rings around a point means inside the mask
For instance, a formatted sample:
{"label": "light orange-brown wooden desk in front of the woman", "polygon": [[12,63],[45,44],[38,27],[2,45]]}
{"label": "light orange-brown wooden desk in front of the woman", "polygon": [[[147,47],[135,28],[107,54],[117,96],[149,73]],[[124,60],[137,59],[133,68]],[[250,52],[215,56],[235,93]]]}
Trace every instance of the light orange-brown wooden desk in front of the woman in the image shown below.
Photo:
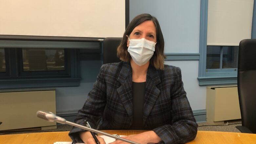
{"label": "light orange-brown wooden desk in front of the woman", "polygon": [[[110,134],[139,134],[144,131],[104,131]],[[53,144],[71,141],[69,132],[46,132],[0,135],[0,144]],[[256,134],[198,131],[195,140],[188,144],[256,144]]]}

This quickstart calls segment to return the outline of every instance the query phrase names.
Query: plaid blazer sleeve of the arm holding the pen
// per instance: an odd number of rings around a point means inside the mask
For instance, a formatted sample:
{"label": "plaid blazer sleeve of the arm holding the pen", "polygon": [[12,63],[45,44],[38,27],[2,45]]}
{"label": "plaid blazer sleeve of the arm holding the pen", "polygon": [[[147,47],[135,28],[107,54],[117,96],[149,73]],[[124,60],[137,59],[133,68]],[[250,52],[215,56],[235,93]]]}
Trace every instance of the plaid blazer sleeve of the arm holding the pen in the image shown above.
{"label": "plaid blazer sleeve of the arm holding the pen", "polygon": [[[85,125],[87,120],[93,129],[96,129],[97,121],[101,118],[106,105],[106,83],[104,80],[104,65],[100,68],[97,80],[93,85],[92,91],[88,94],[82,109],[78,111],[75,123]],[[83,143],[79,137],[79,132],[86,131],[77,127],[73,127],[69,136],[74,143]]]}

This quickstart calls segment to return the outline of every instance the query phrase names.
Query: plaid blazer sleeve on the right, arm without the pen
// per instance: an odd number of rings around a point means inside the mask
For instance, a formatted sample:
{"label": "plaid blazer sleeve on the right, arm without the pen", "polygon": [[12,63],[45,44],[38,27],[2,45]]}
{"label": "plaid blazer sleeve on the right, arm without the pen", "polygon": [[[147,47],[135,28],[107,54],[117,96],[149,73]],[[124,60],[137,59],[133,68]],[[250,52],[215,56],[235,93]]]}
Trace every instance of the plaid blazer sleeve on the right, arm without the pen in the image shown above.
{"label": "plaid blazer sleeve on the right, arm without the pen", "polygon": [[181,69],[175,68],[177,77],[171,90],[171,125],[166,124],[153,130],[165,144],[192,141],[196,137],[198,127],[183,88]]}

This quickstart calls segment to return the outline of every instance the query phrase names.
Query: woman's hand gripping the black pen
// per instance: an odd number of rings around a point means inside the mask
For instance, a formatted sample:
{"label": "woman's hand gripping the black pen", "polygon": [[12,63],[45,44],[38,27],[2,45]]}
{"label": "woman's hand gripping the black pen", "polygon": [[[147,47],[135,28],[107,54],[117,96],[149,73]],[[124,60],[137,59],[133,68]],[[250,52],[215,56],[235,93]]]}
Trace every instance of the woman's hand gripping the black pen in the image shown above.
{"label": "woman's hand gripping the black pen", "polygon": [[[85,144],[96,144],[92,134],[89,131],[87,131],[87,132],[80,132],[79,135],[80,135],[80,138],[83,140],[83,142]],[[96,137],[99,140],[100,144],[106,144],[103,138],[101,138],[99,136],[96,136]]]}

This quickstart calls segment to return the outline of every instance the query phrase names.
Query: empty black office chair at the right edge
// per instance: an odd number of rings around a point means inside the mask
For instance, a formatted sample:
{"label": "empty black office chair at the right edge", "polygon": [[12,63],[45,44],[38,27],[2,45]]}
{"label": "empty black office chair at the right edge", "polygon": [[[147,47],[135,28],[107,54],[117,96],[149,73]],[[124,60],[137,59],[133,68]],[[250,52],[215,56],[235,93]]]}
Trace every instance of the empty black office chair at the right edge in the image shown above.
{"label": "empty black office chair at the right edge", "polygon": [[242,126],[236,128],[242,133],[256,134],[256,39],[245,39],[239,44],[238,54],[238,97]]}

